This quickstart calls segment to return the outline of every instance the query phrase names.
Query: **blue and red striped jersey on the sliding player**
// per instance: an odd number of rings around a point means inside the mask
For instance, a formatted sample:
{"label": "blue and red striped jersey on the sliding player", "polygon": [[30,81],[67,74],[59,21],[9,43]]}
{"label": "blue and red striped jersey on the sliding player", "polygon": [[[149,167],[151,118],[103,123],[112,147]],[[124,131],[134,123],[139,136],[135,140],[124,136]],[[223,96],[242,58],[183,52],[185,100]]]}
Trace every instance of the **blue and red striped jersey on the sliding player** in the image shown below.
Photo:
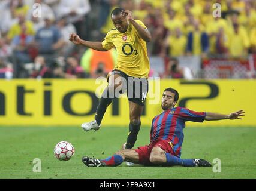
{"label": "blue and red striped jersey on the sliding player", "polygon": [[174,155],[180,157],[183,128],[186,121],[203,122],[206,112],[194,112],[184,107],[174,107],[156,115],[152,120],[150,142],[167,140],[173,146]]}

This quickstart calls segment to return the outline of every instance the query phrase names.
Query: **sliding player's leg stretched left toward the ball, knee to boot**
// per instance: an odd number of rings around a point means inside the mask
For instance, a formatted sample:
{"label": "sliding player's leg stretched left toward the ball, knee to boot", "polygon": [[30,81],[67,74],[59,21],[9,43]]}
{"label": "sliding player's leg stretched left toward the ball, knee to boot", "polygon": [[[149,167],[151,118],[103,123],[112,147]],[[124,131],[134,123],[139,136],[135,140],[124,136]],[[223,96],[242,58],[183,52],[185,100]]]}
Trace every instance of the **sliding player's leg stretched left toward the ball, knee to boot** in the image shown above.
{"label": "sliding player's leg stretched left toward the ball, knee to boot", "polygon": [[119,150],[113,156],[106,159],[93,159],[88,156],[82,157],[82,162],[88,167],[116,167],[124,161],[138,163],[138,153],[135,150]]}

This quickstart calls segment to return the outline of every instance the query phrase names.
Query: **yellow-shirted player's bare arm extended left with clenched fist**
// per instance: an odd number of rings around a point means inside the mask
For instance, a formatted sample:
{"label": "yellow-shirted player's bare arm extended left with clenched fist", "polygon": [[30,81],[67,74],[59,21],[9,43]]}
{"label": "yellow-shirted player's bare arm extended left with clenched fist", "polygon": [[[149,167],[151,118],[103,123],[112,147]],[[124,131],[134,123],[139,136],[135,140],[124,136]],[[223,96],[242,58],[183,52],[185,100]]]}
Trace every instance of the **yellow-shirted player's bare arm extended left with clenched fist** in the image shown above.
{"label": "yellow-shirted player's bare arm extended left with clenched fist", "polygon": [[70,41],[76,45],[83,45],[85,47],[89,47],[94,50],[107,51],[105,48],[103,48],[103,45],[101,44],[101,42],[84,41],[80,39],[79,35],[74,33],[70,34]]}

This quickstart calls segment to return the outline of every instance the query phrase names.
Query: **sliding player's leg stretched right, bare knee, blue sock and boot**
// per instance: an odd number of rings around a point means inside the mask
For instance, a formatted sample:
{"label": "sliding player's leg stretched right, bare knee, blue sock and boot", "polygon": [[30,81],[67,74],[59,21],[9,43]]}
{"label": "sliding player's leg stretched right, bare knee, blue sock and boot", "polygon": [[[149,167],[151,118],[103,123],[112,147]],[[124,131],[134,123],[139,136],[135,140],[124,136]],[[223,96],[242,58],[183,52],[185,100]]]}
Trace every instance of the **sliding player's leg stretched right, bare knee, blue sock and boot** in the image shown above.
{"label": "sliding player's leg stretched right, bare knee, blue sock and boot", "polygon": [[153,147],[150,153],[150,162],[156,165],[183,166],[183,167],[211,167],[210,162],[204,159],[180,159],[177,156],[166,153],[160,147]]}

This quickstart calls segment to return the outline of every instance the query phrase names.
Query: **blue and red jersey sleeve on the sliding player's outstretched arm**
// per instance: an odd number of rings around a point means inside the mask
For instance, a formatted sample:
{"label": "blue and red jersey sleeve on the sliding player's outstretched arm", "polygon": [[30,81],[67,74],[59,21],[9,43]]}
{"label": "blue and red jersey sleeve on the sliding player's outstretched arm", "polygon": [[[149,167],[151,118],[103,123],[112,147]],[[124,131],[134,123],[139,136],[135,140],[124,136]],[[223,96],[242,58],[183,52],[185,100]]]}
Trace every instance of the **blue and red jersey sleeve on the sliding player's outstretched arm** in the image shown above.
{"label": "blue and red jersey sleeve on the sliding player's outstretched arm", "polygon": [[179,116],[185,121],[203,122],[206,117],[206,112],[195,112],[193,110],[182,108]]}

